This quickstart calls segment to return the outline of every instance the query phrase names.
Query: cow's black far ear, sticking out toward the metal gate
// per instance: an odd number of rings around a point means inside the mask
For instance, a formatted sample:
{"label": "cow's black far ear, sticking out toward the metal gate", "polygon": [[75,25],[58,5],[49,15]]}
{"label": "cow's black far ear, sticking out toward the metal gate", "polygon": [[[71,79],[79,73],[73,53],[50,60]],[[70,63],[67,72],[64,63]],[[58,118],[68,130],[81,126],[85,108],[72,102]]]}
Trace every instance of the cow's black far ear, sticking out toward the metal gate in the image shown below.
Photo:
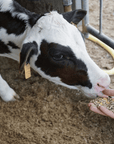
{"label": "cow's black far ear, sticking out toward the metal gate", "polygon": [[62,15],[69,23],[73,22],[75,24],[78,24],[84,18],[86,13],[87,12],[85,10],[79,9],[63,13]]}

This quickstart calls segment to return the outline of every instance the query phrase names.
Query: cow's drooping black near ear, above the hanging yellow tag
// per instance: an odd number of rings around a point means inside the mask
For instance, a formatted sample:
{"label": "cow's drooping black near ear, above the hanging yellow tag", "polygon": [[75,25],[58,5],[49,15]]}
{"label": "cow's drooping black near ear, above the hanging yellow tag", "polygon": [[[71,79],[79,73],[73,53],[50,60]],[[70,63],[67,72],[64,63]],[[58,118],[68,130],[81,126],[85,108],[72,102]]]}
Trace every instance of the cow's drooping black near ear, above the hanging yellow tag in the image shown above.
{"label": "cow's drooping black near ear, above the hanging yellow tag", "polygon": [[30,63],[30,58],[33,55],[37,55],[38,45],[35,41],[23,44],[20,52],[20,66],[19,70],[22,71],[24,64]]}

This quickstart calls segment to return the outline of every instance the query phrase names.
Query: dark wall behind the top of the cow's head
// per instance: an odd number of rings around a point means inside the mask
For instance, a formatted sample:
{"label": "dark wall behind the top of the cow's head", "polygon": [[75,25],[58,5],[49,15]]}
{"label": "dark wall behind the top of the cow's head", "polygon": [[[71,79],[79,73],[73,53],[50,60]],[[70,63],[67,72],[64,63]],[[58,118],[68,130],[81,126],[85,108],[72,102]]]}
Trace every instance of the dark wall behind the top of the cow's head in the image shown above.
{"label": "dark wall behind the top of the cow's head", "polygon": [[[16,0],[23,7],[36,13],[46,13],[52,10],[57,10],[60,13],[64,12],[62,0]],[[75,9],[75,0],[73,0],[73,9]]]}

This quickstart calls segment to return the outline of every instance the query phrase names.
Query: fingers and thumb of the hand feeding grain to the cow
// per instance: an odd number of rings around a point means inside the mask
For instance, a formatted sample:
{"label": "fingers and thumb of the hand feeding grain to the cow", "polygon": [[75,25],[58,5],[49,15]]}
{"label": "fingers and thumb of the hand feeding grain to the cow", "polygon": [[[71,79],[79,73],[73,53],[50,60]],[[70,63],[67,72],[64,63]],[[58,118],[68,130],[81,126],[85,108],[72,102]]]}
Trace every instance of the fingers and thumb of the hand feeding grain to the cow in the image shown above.
{"label": "fingers and thumb of the hand feeding grain to the cow", "polygon": [[[108,97],[108,96],[114,96],[114,90],[113,89],[105,89],[103,91],[104,97]],[[89,108],[91,111],[104,115],[104,116],[108,116],[111,117],[112,119],[114,119],[114,113],[110,110],[108,110],[106,107],[104,106],[99,106],[96,107],[93,103],[89,103],[88,104]]]}

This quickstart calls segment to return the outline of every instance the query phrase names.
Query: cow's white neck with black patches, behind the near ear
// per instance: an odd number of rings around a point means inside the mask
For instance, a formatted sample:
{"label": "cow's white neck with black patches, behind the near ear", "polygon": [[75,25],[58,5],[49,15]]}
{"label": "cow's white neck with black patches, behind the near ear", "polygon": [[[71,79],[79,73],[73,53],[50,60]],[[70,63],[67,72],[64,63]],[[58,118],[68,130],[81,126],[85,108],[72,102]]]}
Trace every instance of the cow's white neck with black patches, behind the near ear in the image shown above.
{"label": "cow's white neck with black patches, behind the near ear", "polygon": [[16,61],[19,61],[19,54],[21,51],[23,41],[26,38],[26,35],[30,29],[31,28],[28,27],[23,34],[18,36],[15,36],[15,34],[7,35],[6,30],[4,29],[0,31],[2,39],[3,36],[5,36],[4,39],[7,40],[7,41],[5,40],[0,41],[0,56],[8,57]]}

